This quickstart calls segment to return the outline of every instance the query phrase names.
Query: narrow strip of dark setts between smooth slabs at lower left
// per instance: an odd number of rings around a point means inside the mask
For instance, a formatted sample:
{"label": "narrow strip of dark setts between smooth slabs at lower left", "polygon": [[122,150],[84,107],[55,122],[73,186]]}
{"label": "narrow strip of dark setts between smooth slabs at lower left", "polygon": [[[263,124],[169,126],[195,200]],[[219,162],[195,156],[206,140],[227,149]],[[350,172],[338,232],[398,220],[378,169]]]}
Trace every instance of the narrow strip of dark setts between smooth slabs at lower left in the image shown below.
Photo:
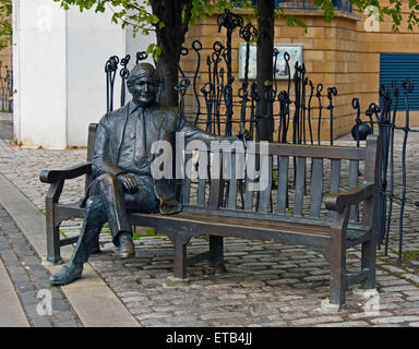
{"label": "narrow strip of dark setts between smooth slabs at lower left", "polygon": [[[2,206],[0,206],[0,258],[32,327],[82,327],[61,289],[50,287],[49,273]],[[48,314],[49,299],[52,302],[51,314]]]}

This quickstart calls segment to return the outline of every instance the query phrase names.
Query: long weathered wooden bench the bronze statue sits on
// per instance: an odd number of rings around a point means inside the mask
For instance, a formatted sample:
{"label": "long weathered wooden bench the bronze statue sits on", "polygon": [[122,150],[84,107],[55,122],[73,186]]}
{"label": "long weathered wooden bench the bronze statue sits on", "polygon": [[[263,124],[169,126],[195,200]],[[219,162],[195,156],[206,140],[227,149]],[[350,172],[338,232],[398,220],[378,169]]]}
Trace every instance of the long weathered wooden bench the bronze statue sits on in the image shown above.
{"label": "long weathered wooden bench the bronze statue sits on", "polygon": [[[47,251],[48,261],[53,263],[61,260],[62,245],[76,242],[76,238],[60,239],[59,227],[65,219],[82,218],[83,210],[79,203],[61,204],[59,198],[68,179],[85,176],[86,188],[91,183],[95,130],[96,124],[91,124],[86,164],[40,173],[40,180],[50,183],[46,198]],[[249,190],[250,180],[225,178],[226,164],[235,168],[238,159],[232,153],[229,161],[222,161],[225,167],[219,178],[192,177],[180,181],[181,213],[131,214],[130,219],[133,226],[153,227],[170,238],[175,245],[176,278],[187,277],[187,245],[199,236],[210,237],[205,256],[213,267],[224,266],[223,237],[306,245],[330,262],[330,302],[340,305],[350,285],[375,287],[378,144],[375,135],[370,135],[367,146],[359,148],[270,143],[268,156],[264,157],[267,185],[259,192]],[[212,164],[210,153],[201,159],[206,156]],[[200,165],[189,160],[191,152],[184,156],[185,166],[193,172],[192,167],[196,169]],[[196,152],[193,157],[196,158]],[[360,270],[347,275],[346,250],[358,244],[362,252]]]}

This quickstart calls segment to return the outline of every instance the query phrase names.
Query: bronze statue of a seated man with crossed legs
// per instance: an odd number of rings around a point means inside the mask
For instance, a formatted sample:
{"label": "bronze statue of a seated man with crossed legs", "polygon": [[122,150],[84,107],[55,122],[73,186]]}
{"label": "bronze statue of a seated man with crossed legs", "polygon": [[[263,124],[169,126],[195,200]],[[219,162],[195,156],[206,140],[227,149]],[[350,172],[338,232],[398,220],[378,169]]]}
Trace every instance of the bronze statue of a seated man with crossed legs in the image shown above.
{"label": "bronze statue of a seated man with crossed legs", "polygon": [[121,258],[135,254],[128,213],[176,214],[169,181],[156,181],[151,172],[152,144],[167,133],[182,132],[185,141],[237,140],[206,133],[189,123],[176,107],[156,101],[159,79],[152,64],[135,65],[127,81],[132,100],[105,115],[97,127],[92,170],[94,181],[82,201],[84,220],[69,264],[50,277],[52,285],[64,285],[82,276],[94,242],[108,221],[112,241]]}

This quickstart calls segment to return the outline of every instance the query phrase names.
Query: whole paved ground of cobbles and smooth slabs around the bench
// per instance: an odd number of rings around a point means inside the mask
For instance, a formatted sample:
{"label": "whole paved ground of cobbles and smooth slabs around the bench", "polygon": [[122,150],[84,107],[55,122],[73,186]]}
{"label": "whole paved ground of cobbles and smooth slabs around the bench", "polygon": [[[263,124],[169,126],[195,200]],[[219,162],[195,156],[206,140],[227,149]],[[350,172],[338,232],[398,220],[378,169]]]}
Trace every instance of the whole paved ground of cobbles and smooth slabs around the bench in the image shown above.
{"label": "whole paved ground of cobbles and smooth slabs around the bench", "polygon": [[[118,260],[109,232],[103,252],[93,255],[83,277],[52,287],[46,262],[46,168],[83,163],[86,149],[48,151],[14,146],[11,116],[0,113],[0,327],[419,327],[419,215],[407,205],[404,254],[397,262],[399,205],[394,204],[387,255],[378,253],[378,292],[351,287],[339,312],[321,306],[328,294],[328,264],[303,246],[225,239],[227,273],[205,273],[204,263],[188,268],[188,282],[171,282],[173,249],[165,236],[140,229],[135,257]],[[396,152],[402,144],[396,134]],[[354,144],[348,136],[337,144]],[[418,198],[419,133],[408,142],[408,200]],[[397,158],[399,160],[399,158]],[[395,178],[399,179],[399,166]],[[398,186],[397,186],[398,188]],[[396,189],[397,189],[396,188]],[[74,202],[83,183],[70,180],[62,202]],[[75,200],[74,200],[75,198]],[[80,219],[65,221],[62,233],[80,231]],[[62,249],[69,261],[73,246]],[[190,254],[207,249],[192,239]],[[347,255],[348,270],[359,268],[360,251]]]}

